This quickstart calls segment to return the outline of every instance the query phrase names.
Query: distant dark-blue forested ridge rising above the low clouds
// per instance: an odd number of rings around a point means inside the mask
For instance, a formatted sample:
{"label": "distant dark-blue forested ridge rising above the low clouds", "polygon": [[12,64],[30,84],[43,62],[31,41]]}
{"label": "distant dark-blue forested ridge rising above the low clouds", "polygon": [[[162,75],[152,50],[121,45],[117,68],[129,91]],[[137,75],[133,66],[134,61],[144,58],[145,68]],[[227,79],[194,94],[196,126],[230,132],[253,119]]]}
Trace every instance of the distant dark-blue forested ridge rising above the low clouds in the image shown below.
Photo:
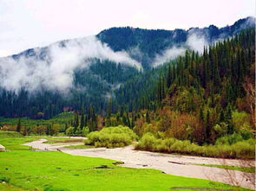
{"label": "distant dark-blue forested ridge rising above the low clouds", "polygon": [[[97,37],[108,44],[114,51],[128,51],[145,68],[150,67],[156,54],[162,54],[167,48],[186,45],[191,35],[204,38],[207,44],[226,39],[240,33],[242,29],[255,26],[255,18],[246,17],[234,22],[232,26],[218,28],[214,25],[199,29],[139,29],[111,28],[105,29]],[[138,54],[138,52],[140,54]]]}

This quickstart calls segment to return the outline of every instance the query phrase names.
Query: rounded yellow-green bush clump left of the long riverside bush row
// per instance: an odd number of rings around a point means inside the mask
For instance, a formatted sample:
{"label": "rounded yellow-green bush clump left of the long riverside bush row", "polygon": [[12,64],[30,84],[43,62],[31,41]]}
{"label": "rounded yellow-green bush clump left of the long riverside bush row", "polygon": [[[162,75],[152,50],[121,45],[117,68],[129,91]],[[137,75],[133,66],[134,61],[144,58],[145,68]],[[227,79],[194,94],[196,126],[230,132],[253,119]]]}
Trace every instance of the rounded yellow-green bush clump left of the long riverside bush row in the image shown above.
{"label": "rounded yellow-green bush clump left of the long riverside bush row", "polygon": [[123,147],[137,139],[134,131],[121,125],[105,127],[102,131],[90,132],[87,137],[88,140],[85,140],[85,144],[107,148]]}

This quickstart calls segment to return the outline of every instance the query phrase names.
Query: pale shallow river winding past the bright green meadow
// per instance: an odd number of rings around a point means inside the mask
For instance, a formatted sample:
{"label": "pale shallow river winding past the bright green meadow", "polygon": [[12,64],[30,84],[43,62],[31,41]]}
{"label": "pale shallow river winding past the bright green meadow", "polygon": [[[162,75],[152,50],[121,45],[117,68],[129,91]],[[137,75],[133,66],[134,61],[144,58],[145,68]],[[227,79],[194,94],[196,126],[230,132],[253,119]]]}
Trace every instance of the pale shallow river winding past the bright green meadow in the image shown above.
{"label": "pale shallow river winding past the bright green meadow", "polygon": [[[63,148],[64,146],[70,145],[70,143],[61,145],[51,145],[43,143],[45,141],[46,139],[40,139],[38,141],[26,143],[26,145],[32,146],[33,148],[39,150],[62,150],[62,152],[75,156],[95,156],[114,159],[117,161],[124,162],[122,166],[125,167],[160,169],[161,171],[171,175],[181,175],[187,177],[202,178],[211,181],[221,181],[232,185],[236,185],[237,183],[239,183],[240,186],[244,188],[254,189],[253,182],[250,182],[248,178],[246,178],[249,176],[252,177],[253,174],[251,173],[244,173],[237,170],[226,170],[220,168],[193,165],[193,163],[200,163],[220,165],[226,164],[230,166],[246,166],[246,164],[242,164],[240,160],[226,159],[224,161],[223,159],[199,156],[179,156],[161,154],[148,151],[134,150],[132,146],[116,149],[97,148],[86,150],[73,150]],[[254,164],[253,161],[251,162]]]}

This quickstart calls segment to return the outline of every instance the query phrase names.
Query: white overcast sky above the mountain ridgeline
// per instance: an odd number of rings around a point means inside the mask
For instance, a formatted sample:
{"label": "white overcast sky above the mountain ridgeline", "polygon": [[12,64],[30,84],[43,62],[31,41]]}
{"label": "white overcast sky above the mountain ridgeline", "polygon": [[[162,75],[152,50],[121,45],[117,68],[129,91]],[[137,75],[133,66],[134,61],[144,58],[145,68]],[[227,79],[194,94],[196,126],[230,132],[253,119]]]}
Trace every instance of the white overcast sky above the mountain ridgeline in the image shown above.
{"label": "white overcast sky above the mountain ridgeline", "polygon": [[255,15],[255,0],[0,0],[0,56],[102,29],[189,29]]}

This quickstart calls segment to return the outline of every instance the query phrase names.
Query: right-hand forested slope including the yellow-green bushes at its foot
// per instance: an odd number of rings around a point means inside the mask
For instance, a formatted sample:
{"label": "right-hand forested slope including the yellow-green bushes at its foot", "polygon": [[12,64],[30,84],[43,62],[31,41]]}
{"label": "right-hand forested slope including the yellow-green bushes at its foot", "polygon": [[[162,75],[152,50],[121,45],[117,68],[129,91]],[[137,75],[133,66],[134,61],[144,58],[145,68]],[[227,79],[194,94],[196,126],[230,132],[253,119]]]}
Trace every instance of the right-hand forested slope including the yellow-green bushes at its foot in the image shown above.
{"label": "right-hand forested slope including the yellow-green bushes at its foot", "polygon": [[141,137],[138,150],[253,158],[254,79],[255,30],[247,29],[121,86],[126,107],[98,128],[128,125]]}

